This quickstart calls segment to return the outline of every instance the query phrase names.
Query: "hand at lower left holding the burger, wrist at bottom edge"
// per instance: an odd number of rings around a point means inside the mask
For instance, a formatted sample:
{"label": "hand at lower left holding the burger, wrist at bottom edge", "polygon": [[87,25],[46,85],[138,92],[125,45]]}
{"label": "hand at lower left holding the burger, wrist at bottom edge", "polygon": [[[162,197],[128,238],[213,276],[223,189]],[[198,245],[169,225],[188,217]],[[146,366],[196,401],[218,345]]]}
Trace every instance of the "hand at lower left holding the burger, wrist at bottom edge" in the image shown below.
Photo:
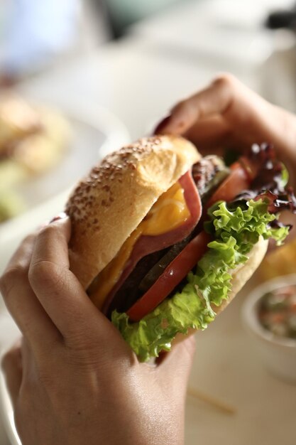
{"label": "hand at lower left holding the burger, wrist at bottom edge", "polygon": [[182,444],[194,339],[138,363],[70,272],[69,239],[68,218],[27,237],[0,281],[23,333],[3,360],[22,444]]}

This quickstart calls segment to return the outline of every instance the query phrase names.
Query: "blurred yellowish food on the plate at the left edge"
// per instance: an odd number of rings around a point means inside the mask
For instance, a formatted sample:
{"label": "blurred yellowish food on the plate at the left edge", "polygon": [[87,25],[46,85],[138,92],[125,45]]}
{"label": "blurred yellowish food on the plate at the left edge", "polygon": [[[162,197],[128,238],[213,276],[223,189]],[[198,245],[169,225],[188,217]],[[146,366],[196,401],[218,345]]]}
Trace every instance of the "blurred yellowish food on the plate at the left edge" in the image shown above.
{"label": "blurred yellowish food on the plate at the left edge", "polygon": [[70,134],[55,109],[32,106],[13,93],[0,100],[0,223],[25,210],[16,187],[59,163]]}

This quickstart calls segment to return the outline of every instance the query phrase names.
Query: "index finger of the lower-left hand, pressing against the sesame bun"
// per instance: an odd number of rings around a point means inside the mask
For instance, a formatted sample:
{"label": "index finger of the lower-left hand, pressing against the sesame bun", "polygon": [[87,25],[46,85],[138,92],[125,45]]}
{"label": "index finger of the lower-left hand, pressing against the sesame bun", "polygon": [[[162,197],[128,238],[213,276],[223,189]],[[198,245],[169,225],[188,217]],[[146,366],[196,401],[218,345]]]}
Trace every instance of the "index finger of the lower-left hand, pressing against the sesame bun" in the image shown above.
{"label": "index finger of the lower-left hand, pressing against the sesame bun", "polygon": [[[65,218],[41,230],[28,273],[40,304],[64,338],[81,338],[86,333],[103,336],[111,323],[90,301],[69,269],[70,220]],[[98,332],[99,331],[99,332]]]}

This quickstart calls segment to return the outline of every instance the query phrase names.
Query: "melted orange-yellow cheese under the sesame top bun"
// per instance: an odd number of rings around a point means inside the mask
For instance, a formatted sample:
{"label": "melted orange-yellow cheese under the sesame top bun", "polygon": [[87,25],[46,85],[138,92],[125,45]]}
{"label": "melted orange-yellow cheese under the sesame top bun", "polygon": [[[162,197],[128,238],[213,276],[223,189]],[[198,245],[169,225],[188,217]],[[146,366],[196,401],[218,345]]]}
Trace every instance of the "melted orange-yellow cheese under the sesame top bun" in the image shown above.
{"label": "melted orange-yellow cheese under the sesame top bun", "polygon": [[124,242],[116,257],[107,264],[90,286],[89,291],[94,304],[102,309],[106,296],[118,282],[128,258],[131,257],[133,246],[141,235],[163,235],[185,223],[189,217],[190,211],[184,198],[184,190],[177,182],[160,196],[136,230]]}

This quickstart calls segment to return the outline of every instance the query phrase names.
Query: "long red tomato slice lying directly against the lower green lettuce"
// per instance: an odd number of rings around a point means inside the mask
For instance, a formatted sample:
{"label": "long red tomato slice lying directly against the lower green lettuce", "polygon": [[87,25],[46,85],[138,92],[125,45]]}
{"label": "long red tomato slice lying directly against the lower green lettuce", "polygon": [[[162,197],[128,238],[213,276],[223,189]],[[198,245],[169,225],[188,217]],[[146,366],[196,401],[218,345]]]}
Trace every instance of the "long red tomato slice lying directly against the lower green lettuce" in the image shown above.
{"label": "long red tomato slice lying directly against the lower green lettuce", "polygon": [[211,237],[206,232],[200,232],[193,238],[180,254],[165,268],[163,274],[127,311],[131,321],[139,321],[153,311],[175,289],[190,270],[199,262],[207,250]]}

